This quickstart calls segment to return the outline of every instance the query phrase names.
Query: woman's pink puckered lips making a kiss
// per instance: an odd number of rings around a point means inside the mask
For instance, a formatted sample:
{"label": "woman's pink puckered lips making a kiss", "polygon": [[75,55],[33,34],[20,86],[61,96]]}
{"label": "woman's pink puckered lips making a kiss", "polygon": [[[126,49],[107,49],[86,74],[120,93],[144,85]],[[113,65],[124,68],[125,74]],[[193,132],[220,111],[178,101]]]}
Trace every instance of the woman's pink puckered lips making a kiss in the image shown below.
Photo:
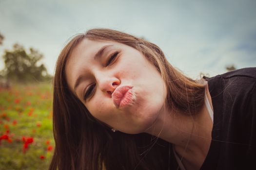
{"label": "woman's pink puckered lips making a kiss", "polygon": [[112,93],[112,99],[116,107],[118,108],[120,105],[120,102],[125,97],[125,94],[131,89],[133,86],[130,85],[123,85],[118,86],[115,91]]}

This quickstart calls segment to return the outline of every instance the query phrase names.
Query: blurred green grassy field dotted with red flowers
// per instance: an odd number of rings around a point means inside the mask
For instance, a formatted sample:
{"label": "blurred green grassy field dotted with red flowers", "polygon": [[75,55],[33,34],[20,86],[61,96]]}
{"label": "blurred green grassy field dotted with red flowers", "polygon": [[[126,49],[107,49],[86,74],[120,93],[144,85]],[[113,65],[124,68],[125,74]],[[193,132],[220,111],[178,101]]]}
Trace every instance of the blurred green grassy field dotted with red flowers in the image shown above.
{"label": "blurred green grassy field dotted with red flowers", "polygon": [[0,170],[47,170],[54,151],[52,85],[0,87]]}

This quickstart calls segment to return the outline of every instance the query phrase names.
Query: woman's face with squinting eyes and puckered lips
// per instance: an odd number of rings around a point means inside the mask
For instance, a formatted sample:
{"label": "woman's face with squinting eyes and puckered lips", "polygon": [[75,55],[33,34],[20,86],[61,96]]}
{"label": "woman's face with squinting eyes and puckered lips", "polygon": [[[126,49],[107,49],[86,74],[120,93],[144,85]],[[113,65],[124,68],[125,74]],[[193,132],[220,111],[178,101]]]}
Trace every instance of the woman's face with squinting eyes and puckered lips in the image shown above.
{"label": "woman's face with squinting eyes and puckered lips", "polygon": [[92,116],[118,131],[145,132],[163,111],[166,87],[160,73],[130,46],[84,39],[71,53],[65,74]]}

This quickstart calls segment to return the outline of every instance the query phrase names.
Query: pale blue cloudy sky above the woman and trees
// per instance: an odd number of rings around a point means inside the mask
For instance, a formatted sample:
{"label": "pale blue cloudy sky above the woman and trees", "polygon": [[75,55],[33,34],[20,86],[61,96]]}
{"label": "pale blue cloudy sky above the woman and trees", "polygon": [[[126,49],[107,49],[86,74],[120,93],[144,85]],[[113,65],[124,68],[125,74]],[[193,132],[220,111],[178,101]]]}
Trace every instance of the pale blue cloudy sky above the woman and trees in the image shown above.
{"label": "pale blue cloudy sky above the woman and trees", "polygon": [[[158,45],[184,74],[256,67],[256,0],[0,0],[0,56],[19,43],[54,74],[74,34],[110,28]],[[4,67],[0,59],[0,69]]]}

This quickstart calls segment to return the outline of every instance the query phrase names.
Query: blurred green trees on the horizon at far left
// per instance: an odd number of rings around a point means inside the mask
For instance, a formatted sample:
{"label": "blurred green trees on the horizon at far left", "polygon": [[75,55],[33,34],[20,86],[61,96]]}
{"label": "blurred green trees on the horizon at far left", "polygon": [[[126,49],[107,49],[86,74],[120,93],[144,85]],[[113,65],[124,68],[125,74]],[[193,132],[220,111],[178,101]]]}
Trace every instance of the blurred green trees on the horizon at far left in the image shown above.
{"label": "blurred green trees on the horizon at far left", "polygon": [[[0,34],[0,45],[4,36]],[[30,48],[26,51],[20,44],[14,44],[12,50],[4,50],[2,59],[4,68],[0,71],[1,77],[12,82],[45,82],[52,76],[48,74],[44,64],[40,64],[43,55]]]}

